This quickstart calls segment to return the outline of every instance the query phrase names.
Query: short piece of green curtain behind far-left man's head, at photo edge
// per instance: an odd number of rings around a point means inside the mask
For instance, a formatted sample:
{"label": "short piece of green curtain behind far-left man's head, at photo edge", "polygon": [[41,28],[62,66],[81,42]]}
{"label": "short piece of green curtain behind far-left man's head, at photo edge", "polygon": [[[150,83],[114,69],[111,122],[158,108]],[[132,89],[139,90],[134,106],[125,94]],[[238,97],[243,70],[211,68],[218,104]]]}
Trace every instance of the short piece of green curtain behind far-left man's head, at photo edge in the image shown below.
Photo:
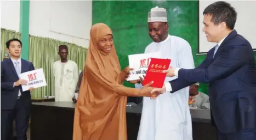
{"label": "short piece of green curtain behind far-left man's head, at photo edge", "polygon": [[20,33],[1,28],[1,60],[3,60],[4,54],[6,52],[5,42],[13,38],[20,39]]}

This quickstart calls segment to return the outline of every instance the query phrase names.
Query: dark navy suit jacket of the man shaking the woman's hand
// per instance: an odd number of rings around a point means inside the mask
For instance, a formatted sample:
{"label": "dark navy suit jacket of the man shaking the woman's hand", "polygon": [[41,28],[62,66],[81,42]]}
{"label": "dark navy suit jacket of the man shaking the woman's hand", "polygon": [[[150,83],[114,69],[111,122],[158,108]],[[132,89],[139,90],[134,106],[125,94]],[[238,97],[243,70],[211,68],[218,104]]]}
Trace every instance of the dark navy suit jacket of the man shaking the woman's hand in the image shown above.
{"label": "dark navy suit jacket of the man shaking the woman's hand", "polygon": [[234,30],[196,69],[180,69],[172,93],[209,83],[212,118],[223,133],[256,129],[256,69],[251,44]]}

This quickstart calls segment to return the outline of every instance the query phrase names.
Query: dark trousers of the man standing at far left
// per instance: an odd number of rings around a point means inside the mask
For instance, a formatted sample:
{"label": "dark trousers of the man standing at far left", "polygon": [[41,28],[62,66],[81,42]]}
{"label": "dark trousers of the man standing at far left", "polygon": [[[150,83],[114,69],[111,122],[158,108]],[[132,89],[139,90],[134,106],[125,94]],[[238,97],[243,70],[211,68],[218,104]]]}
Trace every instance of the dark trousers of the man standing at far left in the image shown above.
{"label": "dark trousers of the man standing at far left", "polygon": [[26,140],[27,127],[29,127],[31,102],[24,104],[22,99],[16,101],[13,109],[1,109],[1,140],[13,139],[13,121],[16,126],[16,139]]}

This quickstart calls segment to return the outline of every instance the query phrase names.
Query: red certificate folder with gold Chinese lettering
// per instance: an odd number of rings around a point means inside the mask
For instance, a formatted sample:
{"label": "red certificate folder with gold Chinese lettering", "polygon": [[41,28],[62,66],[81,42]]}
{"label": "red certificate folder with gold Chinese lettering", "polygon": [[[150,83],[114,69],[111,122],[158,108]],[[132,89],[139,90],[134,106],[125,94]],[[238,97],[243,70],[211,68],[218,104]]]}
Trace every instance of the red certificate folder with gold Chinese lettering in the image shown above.
{"label": "red certificate folder with gold Chinese lettering", "polygon": [[162,88],[166,73],[163,70],[168,70],[170,66],[170,59],[151,58],[149,68],[147,69],[143,86],[153,81],[150,87]]}

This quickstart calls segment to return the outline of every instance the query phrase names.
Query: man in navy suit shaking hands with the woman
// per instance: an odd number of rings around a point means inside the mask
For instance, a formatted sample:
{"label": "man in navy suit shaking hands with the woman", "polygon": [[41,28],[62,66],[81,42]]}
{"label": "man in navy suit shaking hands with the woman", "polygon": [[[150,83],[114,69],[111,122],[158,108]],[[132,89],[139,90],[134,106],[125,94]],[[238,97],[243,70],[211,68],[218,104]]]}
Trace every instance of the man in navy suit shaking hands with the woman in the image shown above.
{"label": "man in navy suit shaking hands with the woman", "polygon": [[[256,69],[251,44],[234,30],[237,13],[229,3],[215,2],[203,11],[207,40],[217,45],[196,69],[170,68],[178,78],[152,92],[209,83],[212,120],[219,140],[256,139]],[[249,19],[248,19],[249,20]]]}

